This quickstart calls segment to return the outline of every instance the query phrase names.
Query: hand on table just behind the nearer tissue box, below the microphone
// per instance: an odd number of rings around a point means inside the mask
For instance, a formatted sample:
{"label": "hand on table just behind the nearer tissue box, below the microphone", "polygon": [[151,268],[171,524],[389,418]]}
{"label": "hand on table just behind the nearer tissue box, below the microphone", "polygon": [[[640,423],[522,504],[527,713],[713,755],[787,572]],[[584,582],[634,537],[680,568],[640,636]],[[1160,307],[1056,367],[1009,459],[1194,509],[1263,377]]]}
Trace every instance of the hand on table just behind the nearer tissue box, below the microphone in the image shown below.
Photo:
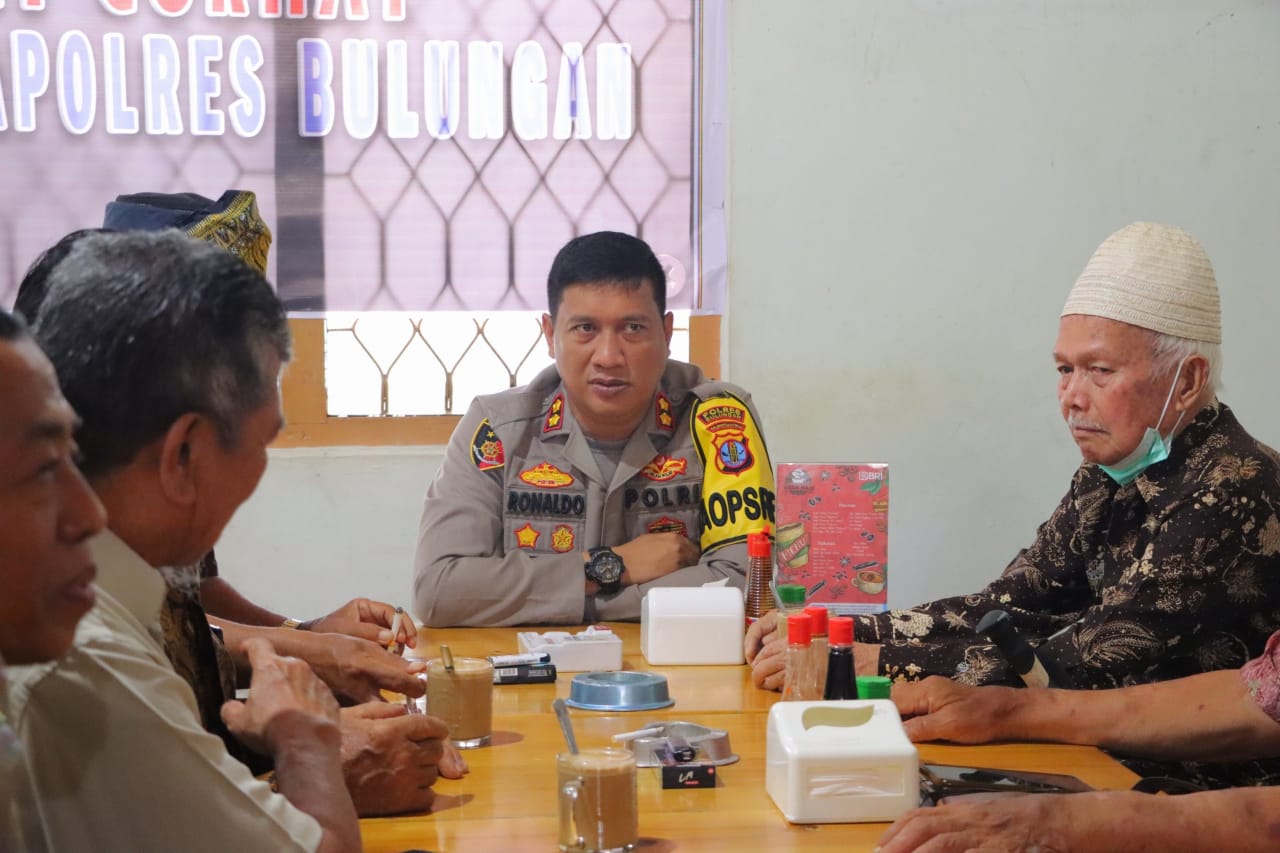
{"label": "hand on table just behind the nearer tissue box, below the microphone", "polygon": [[895,684],[893,703],[914,742],[988,743],[1005,736],[1001,722],[1009,719],[1019,694],[1025,693],[1006,686],[969,686],[934,675],[915,684]]}

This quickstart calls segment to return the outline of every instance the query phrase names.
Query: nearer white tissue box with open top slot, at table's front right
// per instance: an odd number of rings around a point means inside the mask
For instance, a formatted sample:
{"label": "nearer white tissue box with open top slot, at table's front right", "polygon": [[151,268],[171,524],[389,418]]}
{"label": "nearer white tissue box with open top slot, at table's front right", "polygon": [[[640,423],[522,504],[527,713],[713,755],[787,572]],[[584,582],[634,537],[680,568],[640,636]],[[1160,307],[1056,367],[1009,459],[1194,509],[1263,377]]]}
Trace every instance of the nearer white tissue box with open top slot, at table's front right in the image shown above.
{"label": "nearer white tissue box with open top slot, at table's front right", "polygon": [[920,804],[919,765],[888,699],[769,710],[764,785],[792,824],[896,820]]}

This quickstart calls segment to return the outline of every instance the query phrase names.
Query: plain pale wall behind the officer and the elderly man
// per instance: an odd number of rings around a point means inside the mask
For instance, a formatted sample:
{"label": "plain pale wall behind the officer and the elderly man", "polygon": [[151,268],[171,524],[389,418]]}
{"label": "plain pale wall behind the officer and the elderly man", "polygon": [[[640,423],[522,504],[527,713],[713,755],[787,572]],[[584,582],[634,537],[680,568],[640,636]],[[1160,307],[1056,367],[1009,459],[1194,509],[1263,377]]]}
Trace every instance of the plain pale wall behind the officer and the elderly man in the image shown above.
{"label": "plain pale wall behind the officer and the elderly man", "polygon": [[[887,461],[890,601],[978,588],[1079,459],[1050,352],[1098,242],[1181,224],[1280,444],[1280,4],[731,0],[726,375],[774,461]],[[219,547],[301,616],[408,602],[439,448],[282,451]]]}

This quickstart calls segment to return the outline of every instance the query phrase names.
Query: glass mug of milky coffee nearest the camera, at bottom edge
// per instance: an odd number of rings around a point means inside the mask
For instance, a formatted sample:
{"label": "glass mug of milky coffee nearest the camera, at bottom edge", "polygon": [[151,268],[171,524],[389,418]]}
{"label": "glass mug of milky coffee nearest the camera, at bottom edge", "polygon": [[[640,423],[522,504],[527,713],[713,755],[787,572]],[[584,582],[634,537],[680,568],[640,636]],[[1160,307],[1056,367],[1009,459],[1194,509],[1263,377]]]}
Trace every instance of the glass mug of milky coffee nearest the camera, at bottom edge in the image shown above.
{"label": "glass mug of milky coffee nearest the camera, at bottom edge", "polygon": [[559,849],[621,853],[639,840],[636,760],[627,749],[584,749],[556,756]]}

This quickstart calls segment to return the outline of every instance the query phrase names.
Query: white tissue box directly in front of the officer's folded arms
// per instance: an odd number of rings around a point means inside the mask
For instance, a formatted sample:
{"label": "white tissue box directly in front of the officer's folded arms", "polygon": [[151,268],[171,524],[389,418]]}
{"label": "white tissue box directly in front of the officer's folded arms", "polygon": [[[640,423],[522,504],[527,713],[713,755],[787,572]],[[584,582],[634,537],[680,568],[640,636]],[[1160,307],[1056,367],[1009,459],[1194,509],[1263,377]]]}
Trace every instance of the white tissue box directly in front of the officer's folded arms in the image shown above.
{"label": "white tissue box directly in front of the officer's folded arms", "polygon": [[733,587],[658,587],[640,603],[640,652],[650,663],[741,663],[745,633]]}

